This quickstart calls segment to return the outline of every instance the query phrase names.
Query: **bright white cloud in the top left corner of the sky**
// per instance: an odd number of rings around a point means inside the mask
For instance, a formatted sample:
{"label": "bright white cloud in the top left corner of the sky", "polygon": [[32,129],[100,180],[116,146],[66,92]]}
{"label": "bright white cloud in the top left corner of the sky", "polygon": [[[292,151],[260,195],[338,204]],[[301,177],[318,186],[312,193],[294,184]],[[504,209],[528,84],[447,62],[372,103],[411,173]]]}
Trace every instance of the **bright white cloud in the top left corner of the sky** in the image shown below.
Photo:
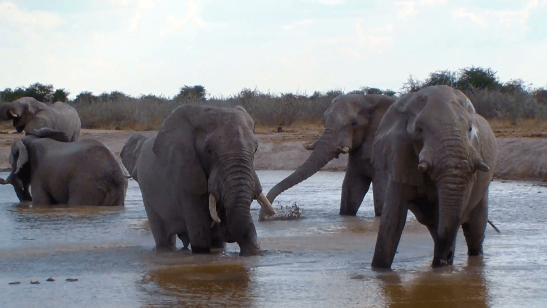
{"label": "bright white cloud in the top left corner of the sky", "polygon": [[11,2],[0,3],[0,20],[27,31],[32,29],[52,30],[64,23],[59,15],[39,10],[26,10]]}

